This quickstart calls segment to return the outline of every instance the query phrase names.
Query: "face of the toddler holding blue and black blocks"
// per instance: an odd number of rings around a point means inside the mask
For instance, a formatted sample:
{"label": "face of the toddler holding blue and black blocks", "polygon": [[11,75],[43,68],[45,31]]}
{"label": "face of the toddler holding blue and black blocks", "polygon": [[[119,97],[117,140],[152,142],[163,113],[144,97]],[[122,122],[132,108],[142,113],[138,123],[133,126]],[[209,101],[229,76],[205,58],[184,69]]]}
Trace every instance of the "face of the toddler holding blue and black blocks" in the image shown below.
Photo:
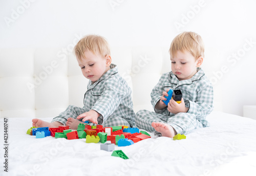
{"label": "face of the toddler holding blue and black blocks", "polygon": [[173,73],[179,81],[182,81],[192,78],[197,73],[197,67],[200,67],[203,58],[195,59],[189,52],[182,53],[178,51],[175,57],[170,56],[170,61],[172,61]]}

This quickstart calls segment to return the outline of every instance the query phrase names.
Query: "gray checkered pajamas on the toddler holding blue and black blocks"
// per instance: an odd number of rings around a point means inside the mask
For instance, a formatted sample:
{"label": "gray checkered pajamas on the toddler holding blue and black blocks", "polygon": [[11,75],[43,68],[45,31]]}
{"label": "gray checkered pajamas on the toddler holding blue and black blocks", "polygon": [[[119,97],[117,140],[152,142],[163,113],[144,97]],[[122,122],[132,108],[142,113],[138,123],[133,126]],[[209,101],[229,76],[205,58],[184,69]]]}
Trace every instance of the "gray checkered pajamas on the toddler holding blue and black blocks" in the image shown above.
{"label": "gray checkered pajamas on the toddler holding blue and black blocks", "polygon": [[[166,89],[181,90],[185,106],[189,108],[186,113],[173,114],[167,110],[167,106],[162,110],[155,109]],[[140,110],[136,114],[136,125],[140,129],[154,132],[151,125],[153,121],[171,125],[177,134],[187,134],[194,129],[209,126],[206,116],[213,110],[214,91],[201,68],[191,79],[183,81],[179,81],[172,71],[162,74],[151,92],[151,98],[155,112]]]}

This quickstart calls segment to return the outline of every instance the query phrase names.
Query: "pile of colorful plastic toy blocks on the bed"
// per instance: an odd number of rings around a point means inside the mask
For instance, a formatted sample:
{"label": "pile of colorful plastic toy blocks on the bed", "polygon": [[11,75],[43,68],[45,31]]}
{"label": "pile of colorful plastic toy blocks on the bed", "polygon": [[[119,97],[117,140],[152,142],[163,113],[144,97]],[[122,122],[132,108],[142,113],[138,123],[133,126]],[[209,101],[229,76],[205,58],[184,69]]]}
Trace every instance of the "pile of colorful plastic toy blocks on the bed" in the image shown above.
{"label": "pile of colorful plastic toy blocks on the bed", "polygon": [[118,146],[132,145],[141,140],[151,138],[147,132],[139,132],[138,128],[128,128],[127,126],[103,128],[102,125],[93,126],[84,123],[79,123],[78,128],[75,131],[69,129],[69,126],[62,125],[58,128],[31,127],[27,131],[27,134],[35,135],[36,138],[43,138],[46,136],[66,139],[86,138],[86,143],[105,143],[106,141],[111,141],[111,143]]}

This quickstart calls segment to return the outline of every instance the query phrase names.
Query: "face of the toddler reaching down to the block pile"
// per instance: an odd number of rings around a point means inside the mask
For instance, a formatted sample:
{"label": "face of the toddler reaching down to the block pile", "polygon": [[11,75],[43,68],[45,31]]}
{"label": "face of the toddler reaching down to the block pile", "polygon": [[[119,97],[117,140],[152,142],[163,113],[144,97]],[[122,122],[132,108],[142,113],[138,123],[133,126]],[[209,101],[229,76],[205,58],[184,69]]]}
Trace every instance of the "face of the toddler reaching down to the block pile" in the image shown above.
{"label": "face of the toddler reaching down to the block pile", "polygon": [[111,57],[106,55],[104,58],[100,55],[95,55],[91,51],[84,52],[85,58],[77,62],[81,67],[82,74],[93,83],[96,82],[106,71],[110,69]]}

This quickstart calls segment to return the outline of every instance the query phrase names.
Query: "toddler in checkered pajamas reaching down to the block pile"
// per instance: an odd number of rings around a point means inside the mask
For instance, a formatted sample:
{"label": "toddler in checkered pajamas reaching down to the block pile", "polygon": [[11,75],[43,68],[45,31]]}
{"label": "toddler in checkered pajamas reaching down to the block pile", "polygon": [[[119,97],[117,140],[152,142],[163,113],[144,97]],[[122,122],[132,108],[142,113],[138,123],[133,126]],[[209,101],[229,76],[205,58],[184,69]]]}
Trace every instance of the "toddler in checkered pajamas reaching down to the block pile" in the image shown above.
{"label": "toddler in checkered pajamas reaching down to the block pile", "polygon": [[132,91],[119,75],[117,66],[111,63],[108,42],[101,36],[88,35],[77,43],[74,52],[83,76],[90,80],[83,108],[69,106],[52,122],[35,118],[32,120],[33,127],[54,128],[66,124],[76,130],[81,120],[105,127],[134,127]]}

